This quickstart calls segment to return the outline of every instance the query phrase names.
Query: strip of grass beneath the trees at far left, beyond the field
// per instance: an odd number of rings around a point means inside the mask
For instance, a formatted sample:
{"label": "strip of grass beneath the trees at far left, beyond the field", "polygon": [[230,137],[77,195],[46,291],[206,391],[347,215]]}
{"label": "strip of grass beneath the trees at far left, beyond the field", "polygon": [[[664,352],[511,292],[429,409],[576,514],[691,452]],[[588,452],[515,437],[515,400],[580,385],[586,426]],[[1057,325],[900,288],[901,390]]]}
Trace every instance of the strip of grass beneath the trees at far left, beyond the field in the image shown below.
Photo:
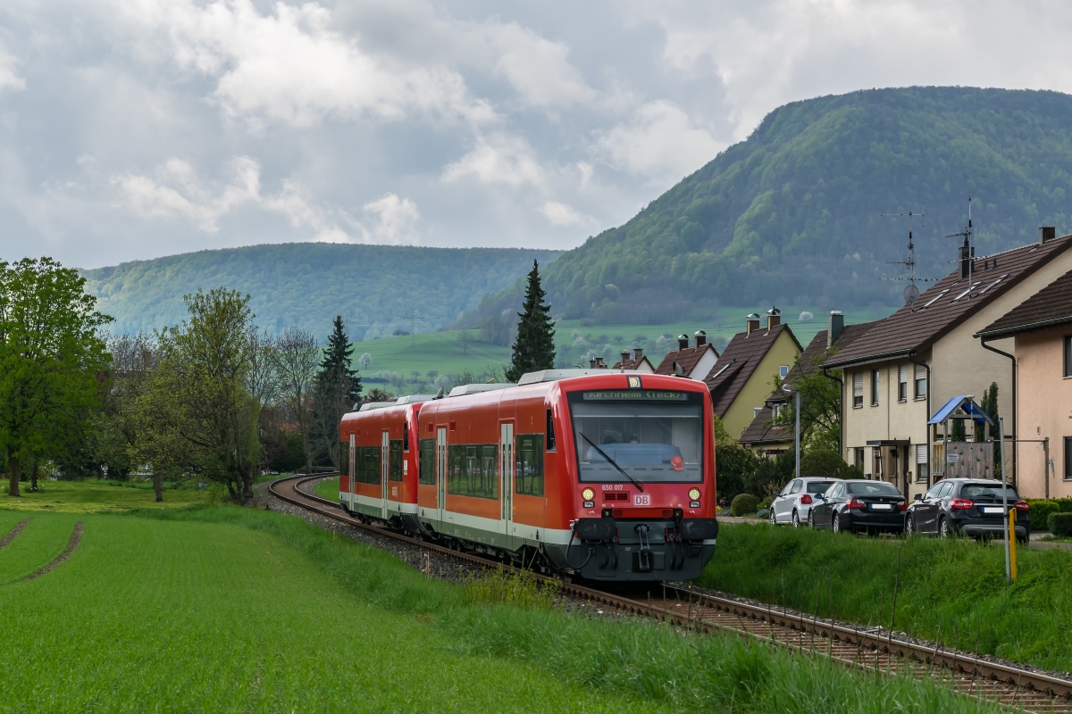
{"label": "strip of grass beneath the trees at far left, beyond the field", "polygon": [[[277,476],[278,477],[278,476]],[[0,486],[0,508],[18,511],[61,511],[64,513],[105,513],[134,508],[165,508],[176,505],[215,503],[226,498],[217,486],[165,488],[164,502],[157,503],[152,484],[146,482],[39,481],[39,490],[19,484],[20,496],[8,496],[8,482]]]}

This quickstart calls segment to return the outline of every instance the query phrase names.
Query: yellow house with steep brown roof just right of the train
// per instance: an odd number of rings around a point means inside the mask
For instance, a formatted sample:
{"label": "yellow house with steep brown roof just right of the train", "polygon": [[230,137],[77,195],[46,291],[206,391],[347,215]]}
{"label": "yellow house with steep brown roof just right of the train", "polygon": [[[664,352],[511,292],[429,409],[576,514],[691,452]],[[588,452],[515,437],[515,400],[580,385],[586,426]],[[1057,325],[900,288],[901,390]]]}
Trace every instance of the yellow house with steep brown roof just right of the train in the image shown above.
{"label": "yellow house with steep brown roof just right of the train", "polygon": [[711,391],[715,415],[731,437],[742,437],[763,410],[774,388],[774,375],[788,375],[801,351],[777,307],[766,312],[765,328],[760,328],[755,313],[745,318],[745,331],[733,335],[703,380]]}

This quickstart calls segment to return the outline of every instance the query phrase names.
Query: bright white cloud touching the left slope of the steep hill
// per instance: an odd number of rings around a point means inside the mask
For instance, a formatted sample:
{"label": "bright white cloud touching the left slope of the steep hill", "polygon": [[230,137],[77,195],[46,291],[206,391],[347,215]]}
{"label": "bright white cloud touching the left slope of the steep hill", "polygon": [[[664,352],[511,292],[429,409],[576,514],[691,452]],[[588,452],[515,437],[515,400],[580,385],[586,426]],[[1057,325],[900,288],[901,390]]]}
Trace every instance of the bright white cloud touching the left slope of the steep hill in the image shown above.
{"label": "bright white cloud touching the left slope of the steep hill", "polygon": [[723,147],[695,126],[681,107],[658,101],[641,106],[628,123],[599,135],[594,153],[621,171],[681,178],[711,161]]}

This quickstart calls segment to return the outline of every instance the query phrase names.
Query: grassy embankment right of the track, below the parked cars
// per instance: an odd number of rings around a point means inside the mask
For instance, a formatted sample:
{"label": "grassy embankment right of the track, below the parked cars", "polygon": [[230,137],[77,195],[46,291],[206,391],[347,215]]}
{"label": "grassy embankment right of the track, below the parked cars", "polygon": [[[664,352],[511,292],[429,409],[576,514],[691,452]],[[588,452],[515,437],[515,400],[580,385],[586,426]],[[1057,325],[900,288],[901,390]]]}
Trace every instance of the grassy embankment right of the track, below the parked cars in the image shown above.
{"label": "grassy embankment right of the track, below the parked cars", "polygon": [[995,654],[1072,669],[1072,553],[1017,553],[1019,579],[1004,582],[1000,543],[853,537],[828,531],[724,525],[700,584]]}

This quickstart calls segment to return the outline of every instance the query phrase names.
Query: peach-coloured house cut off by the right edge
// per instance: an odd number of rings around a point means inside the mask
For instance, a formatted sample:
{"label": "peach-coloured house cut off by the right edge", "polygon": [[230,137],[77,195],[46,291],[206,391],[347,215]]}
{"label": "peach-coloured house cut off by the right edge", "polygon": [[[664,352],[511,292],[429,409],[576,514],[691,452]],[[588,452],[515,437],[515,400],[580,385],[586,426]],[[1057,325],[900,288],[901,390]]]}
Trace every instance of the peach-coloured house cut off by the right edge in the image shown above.
{"label": "peach-coloured house cut off by the right edge", "polygon": [[1007,437],[1007,449],[1014,452],[1017,489],[1024,497],[1072,496],[1072,272],[983,328],[978,337],[983,347],[1013,340],[1019,426],[1014,442]]}

